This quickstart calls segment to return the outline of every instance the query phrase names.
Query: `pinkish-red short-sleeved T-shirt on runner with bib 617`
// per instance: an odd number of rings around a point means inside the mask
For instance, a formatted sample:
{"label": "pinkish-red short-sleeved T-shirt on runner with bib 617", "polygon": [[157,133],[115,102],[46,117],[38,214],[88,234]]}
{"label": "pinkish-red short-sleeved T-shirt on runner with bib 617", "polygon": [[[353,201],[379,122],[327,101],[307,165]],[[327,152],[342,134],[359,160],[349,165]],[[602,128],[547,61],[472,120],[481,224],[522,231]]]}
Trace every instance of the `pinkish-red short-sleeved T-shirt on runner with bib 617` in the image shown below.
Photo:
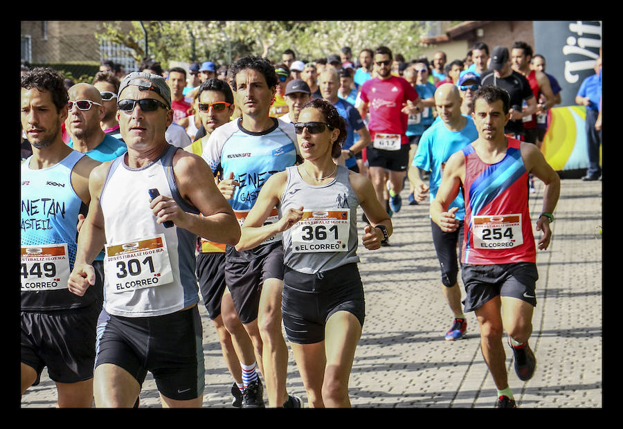
{"label": "pinkish-red short-sleeved T-shirt on runner with bib 617", "polygon": [[376,133],[400,134],[401,144],[408,144],[408,116],[401,110],[407,100],[415,102],[417,98],[417,91],[402,77],[392,75],[384,80],[374,77],[363,82],[361,100],[368,103],[368,130],[372,140]]}

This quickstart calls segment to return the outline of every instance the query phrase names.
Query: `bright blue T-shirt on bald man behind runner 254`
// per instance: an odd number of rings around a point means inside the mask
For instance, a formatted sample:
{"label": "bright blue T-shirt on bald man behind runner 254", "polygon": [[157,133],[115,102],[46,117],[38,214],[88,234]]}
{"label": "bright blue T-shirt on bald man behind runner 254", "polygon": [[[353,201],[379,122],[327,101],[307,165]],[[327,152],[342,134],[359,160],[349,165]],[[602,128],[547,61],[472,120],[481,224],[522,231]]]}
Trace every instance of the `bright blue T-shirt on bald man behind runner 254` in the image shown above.
{"label": "bright blue T-shirt on bald man behind runner 254", "polygon": [[[417,152],[413,157],[411,165],[431,172],[431,177],[428,179],[431,201],[435,199],[441,184],[442,164],[446,163],[453,153],[460,151],[478,138],[478,130],[473,120],[466,115],[463,115],[463,117],[467,119],[467,123],[460,131],[450,131],[444,121],[440,120],[424,131],[422,138],[419,139]],[[456,219],[463,220],[465,207],[461,192],[458,193],[448,209],[453,207],[458,207],[459,209],[455,214]]]}

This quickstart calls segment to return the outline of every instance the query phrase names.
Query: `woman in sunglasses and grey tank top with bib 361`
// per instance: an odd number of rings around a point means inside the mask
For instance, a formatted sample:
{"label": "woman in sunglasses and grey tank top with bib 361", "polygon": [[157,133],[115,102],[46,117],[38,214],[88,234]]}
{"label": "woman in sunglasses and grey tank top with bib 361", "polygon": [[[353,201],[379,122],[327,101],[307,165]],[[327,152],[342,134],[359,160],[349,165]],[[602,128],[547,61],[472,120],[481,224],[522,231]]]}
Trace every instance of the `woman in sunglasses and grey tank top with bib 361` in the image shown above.
{"label": "woman in sunglasses and grey tank top with bib 361", "polygon": [[[362,237],[369,250],[381,248],[392,223],[370,180],[334,163],[332,153],[341,153],[346,131],[332,104],[311,100],[298,120],[303,163],[264,184],[236,248],[253,248],[283,232],[282,311],[307,401],[314,408],[350,407],[348,380],[365,313],[356,269],[356,208],[372,224]],[[280,220],[264,225],[275,206]]]}

